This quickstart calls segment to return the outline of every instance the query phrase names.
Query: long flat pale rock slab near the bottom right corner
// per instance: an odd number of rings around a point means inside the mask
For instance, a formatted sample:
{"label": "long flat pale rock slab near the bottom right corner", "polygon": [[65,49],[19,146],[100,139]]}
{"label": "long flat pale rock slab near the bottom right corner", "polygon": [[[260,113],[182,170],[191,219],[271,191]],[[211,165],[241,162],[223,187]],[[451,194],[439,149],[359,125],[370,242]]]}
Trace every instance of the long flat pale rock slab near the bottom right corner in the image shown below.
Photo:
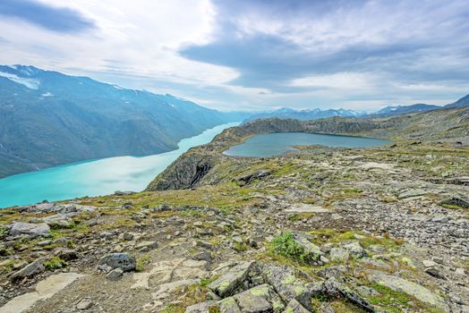
{"label": "long flat pale rock slab near the bottom right corner", "polygon": [[418,283],[409,282],[403,278],[385,274],[371,275],[370,279],[371,281],[382,284],[394,291],[405,292],[414,296],[417,300],[428,303],[433,307],[448,310],[448,306],[443,298]]}

